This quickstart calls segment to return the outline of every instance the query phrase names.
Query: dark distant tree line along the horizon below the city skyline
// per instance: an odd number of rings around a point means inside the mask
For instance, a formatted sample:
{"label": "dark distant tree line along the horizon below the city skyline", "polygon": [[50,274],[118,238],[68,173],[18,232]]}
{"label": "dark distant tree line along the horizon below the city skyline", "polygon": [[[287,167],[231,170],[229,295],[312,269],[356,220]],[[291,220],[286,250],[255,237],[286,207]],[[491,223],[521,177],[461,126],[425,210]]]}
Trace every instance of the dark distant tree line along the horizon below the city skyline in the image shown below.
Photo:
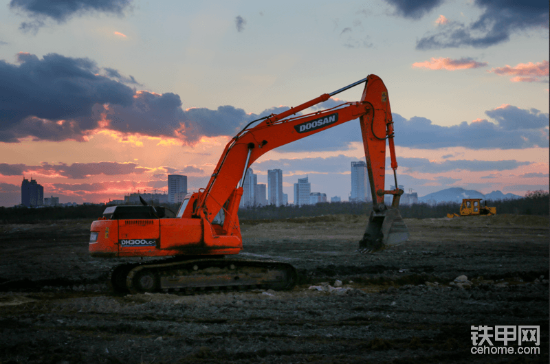
{"label": "dark distant tree line along the horizon below the city skyline", "polygon": [[[482,202],[485,204],[485,202]],[[164,207],[177,212],[179,205],[162,204]],[[318,203],[316,205],[285,205],[275,207],[267,205],[262,207],[247,207],[239,209],[241,220],[281,220],[285,218],[298,218],[320,215],[369,215],[372,203]],[[529,191],[525,197],[515,200],[487,201],[487,206],[496,207],[496,214],[540,215],[549,216],[550,199],[547,191]],[[102,216],[104,205],[78,205],[71,207],[43,207],[40,209],[27,209],[21,207],[0,207],[0,223],[41,223],[47,220],[67,220],[77,218],[98,218]],[[442,218],[450,212],[459,213],[460,203],[438,203],[430,206],[426,203],[414,205],[401,205],[399,212],[404,218]]]}

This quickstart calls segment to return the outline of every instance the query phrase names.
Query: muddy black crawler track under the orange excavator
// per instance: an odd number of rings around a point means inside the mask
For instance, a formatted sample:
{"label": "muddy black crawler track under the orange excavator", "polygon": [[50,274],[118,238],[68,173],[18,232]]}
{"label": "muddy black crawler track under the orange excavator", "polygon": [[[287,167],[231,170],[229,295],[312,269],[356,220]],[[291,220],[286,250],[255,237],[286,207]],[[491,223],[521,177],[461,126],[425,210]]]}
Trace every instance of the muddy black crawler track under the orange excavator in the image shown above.
{"label": "muddy black crawler track under the orange excavator", "polygon": [[291,264],[265,260],[195,259],[122,264],[109,273],[115,293],[285,291],[296,285]]}

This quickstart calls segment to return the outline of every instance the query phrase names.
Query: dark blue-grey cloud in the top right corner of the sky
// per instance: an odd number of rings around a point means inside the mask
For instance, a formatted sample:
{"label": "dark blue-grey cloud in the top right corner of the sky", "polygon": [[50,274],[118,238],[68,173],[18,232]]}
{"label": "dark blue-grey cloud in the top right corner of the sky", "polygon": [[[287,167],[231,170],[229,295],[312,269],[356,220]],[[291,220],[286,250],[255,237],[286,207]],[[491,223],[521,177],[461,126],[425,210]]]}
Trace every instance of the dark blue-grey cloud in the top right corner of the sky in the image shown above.
{"label": "dark blue-grey cloud in the top right corner of the sky", "polygon": [[450,21],[435,34],[423,36],[416,49],[487,48],[509,41],[515,32],[549,27],[547,1],[475,0],[474,4],[483,9],[479,19],[469,25]]}

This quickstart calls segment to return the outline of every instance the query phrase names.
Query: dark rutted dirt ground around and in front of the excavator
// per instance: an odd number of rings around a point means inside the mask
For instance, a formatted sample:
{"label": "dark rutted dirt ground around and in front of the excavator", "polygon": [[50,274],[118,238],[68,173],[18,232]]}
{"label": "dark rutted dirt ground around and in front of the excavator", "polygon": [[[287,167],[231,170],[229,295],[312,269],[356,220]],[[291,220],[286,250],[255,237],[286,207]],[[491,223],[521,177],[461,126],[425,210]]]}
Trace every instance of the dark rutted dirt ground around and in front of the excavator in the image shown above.
{"label": "dark rutted dirt ground around and in front of the excavator", "polygon": [[[126,260],[89,257],[90,223],[0,225],[0,363],[549,362],[549,218],[406,219],[373,255],[364,216],[243,223],[240,258],[298,286],[206,295],[109,293]],[[540,326],[539,353],[472,354],[471,326]]]}

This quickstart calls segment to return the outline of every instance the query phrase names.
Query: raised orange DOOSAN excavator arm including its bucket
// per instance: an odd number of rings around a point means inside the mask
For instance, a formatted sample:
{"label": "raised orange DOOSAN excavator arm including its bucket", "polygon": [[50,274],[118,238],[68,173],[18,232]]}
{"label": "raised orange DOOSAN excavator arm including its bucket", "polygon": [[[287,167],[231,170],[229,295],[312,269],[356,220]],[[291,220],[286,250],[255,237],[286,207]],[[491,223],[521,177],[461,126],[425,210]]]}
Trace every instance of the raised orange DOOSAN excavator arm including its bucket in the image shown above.
{"label": "raised orange DOOSAN excavator arm including its bucket", "polygon": [[[347,102],[336,106],[335,108],[309,113],[307,115],[294,116],[315,104],[328,100],[346,89],[365,82],[364,91],[360,102]],[[288,111],[278,115],[256,120],[259,124],[252,126],[254,122],[248,124],[239,134],[237,134],[225,146],[225,150],[219,159],[214,173],[208,182],[205,190],[199,192],[199,198],[195,209],[192,212],[194,216],[201,216],[210,223],[214,220],[219,210],[230,196],[241,196],[241,187],[236,187],[239,181],[243,181],[246,170],[266,152],[289,144],[292,141],[309,137],[322,130],[327,130],[333,126],[349,122],[350,120],[360,120],[364,151],[366,157],[367,171],[369,174],[369,183],[371,183],[371,192],[373,199],[373,214],[369,220],[369,226],[374,227],[369,233],[367,227],[366,234],[360,242],[360,251],[376,251],[383,249],[388,244],[397,244],[408,238],[406,227],[404,233],[398,237],[393,234],[391,238],[391,227],[394,225],[403,225],[401,216],[397,207],[399,205],[399,196],[403,194],[397,187],[397,177],[395,170],[397,162],[395,161],[395,148],[393,144],[393,122],[391,117],[391,108],[388,98],[388,90],[384,82],[375,75],[370,75],[364,80],[344,87],[333,93],[325,93],[318,98],[305,102]],[[386,139],[391,155],[391,167],[394,170],[395,190],[385,190],[385,170],[386,170]],[[384,205],[384,195],[394,196],[392,209]],[[233,205],[239,201],[233,201]],[[386,211],[388,210],[388,211]],[[391,210],[391,211],[390,211]],[[236,214],[236,209],[231,212],[225,211],[225,215]],[[391,218],[386,218],[391,215]],[[236,220],[236,216],[232,217]],[[384,225],[386,227],[383,227]],[[384,231],[387,230],[387,231]],[[395,229],[394,229],[395,230]],[[401,230],[403,230],[401,228]],[[397,238],[397,242],[394,241]]]}

